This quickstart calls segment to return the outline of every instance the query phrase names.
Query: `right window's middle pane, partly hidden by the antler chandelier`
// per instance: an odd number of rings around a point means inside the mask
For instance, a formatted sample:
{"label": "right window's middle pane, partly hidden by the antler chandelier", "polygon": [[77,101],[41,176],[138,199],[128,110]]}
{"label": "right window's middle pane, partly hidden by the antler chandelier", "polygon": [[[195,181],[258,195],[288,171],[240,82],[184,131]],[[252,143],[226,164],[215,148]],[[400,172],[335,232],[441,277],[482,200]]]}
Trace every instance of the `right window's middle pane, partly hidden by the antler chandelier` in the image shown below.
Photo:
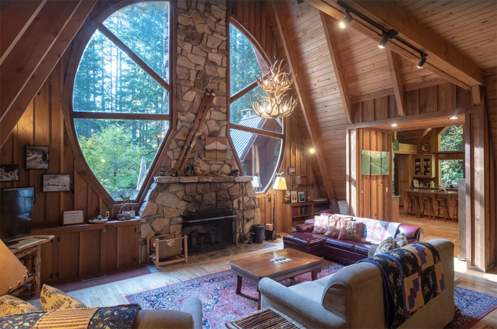
{"label": "right window's middle pane, partly hidden by the antler chandelier", "polygon": [[250,100],[254,103],[257,95],[261,93],[263,92],[260,87],[255,87],[253,90],[231,103],[230,122],[246,127],[281,133],[283,131],[281,119],[263,119],[255,114],[250,107]]}

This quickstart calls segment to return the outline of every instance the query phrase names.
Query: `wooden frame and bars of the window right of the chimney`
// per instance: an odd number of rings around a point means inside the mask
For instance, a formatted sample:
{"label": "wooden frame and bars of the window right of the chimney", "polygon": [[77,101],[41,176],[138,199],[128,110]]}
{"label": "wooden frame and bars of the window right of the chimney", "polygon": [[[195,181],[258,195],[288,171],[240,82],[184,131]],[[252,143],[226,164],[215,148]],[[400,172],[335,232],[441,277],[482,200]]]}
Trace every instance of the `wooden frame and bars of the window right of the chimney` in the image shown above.
{"label": "wooden frame and bars of the window right of the chimney", "polygon": [[[233,25],[236,29],[238,29],[247,39],[248,41],[255,47],[255,49],[259,52],[259,54],[262,56],[262,58],[267,62],[271,63],[270,57],[268,54],[264,51],[263,47],[260,45],[260,43],[250,34],[250,32],[243,26],[242,23],[240,23],[235,17],[230,15],[230,10],[227,11],[227,19],[226,19],[226,35],[227,35],[227,47],[231,46],[230,43],[230,26]],[[229,49],[229,48],[228,48]],[[241,130],[241,131],[247,131],[253,134],[261,135],[261,136],[266,136],[266,137],[274,137],[274,138],[279,138],[281,140],[281,148],[280,148],[280,154],[278,157],[277,165],[274,168],[273,174],[271,175],[271,180],[267,184],[267,186],[264,187],[264,189],[261,192],[256,192],[257,195],[265,195],[269,192],[269,190],[272,188],[271,182],[274,180],[274,176],[278,173],[278,171],[281,170],[281,165],[283,163],[283,158],[285,155],[285,142],[286,142],[286,131],[287,131],[287,119],[285,117],[281,118],[281,133],[278,132],[273,132],[273,131],[267,131],[263,129],[258,129],[258,128],[250,128],[246,127],[240,124],[232,123],[230,120],[230,108],[231,108],[231,103],[237,101],[240,99],[242,96],[246,95],[248,92],[253,90],[255,87],[257,87],[257,82],[253,82],[250,85],[244,87],[242,90],[238,91],[234,95],[231,95],[231,83],[230,83],[230,52],[228,52],[228,62],[227,62],[227,70],[226,70],[226,77],[227,77],[227,84],[226,84],[226,90],[227,94],[229,96],[226,98],[227,100],[227,109],[226,109],[226,115],[227,115],[227,128],[226,128],[226,133],[228,135],[228,140],[230,142],[231,148],[233,149],[233,154],[235,156],[235,159],[237,161],[238,167],[240,168],[240,172],[242,175],[247,175],[245,173],[242,162],[240,161],[240,157],[237,154],[237,151],[235,150],[235,145],[233,144],[233,139],[231,138],[231,129],[236,129],[236,130]]]}

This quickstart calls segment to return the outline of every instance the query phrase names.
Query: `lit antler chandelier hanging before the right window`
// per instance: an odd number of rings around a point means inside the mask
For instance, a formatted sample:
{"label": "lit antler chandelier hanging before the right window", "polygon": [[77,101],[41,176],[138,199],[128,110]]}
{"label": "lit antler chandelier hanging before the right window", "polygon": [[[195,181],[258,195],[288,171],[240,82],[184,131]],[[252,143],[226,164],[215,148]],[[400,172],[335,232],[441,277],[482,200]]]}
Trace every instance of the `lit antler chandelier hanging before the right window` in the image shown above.
{"label": "lit antler chandelier hanging before the right window", "polygon": [[292,89],[295,76],[291,72],[285,72],[283,60],[276,61],[270,68],[269,73],[258,78],[257,85],[265,95],[258,95],[255,102],[250,100],[250,107],[260,117],[278,118],[292,114],[297,106],[297,100],[288,97],[287,93]]}

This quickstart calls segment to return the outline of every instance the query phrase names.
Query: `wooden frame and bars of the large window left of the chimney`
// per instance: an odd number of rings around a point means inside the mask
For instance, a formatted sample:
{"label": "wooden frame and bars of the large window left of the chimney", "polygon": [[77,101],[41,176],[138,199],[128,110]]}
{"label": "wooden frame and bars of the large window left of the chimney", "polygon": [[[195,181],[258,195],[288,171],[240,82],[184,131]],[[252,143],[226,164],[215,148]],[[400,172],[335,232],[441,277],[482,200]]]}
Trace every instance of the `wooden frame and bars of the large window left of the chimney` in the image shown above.
{"label": "wooden frame and bars of the large window left of the chimney", "polygon": [[[154,173],[158,172],[160,163],[166,155],[166,146],[170,143],[172,137],[171,131],[175,128],[175,75],[176,75],[176,24],[177,21],[177,8],[176,1],[171,0],[156,0],[169,2],[169,22],[173,22],[169,27],[169,83],[162,79],[150,66],[148,66],[135,52],[129,49],[114,33],[103,25],[103,22],[116,11],[140,2],[147,0],[110,0],[101,10],[96,17],[89,18],[88,22],[78,31],[73,40],[73,49],[71,51],[68,63],[68,72],[64,82],[64,88],[61,97],[61,107],[64,114],[64,121],[69,136],[69,141],[72,146],[75,162],[78,172],[87,180],[87,183],[95,190],[95,192],[102,198],[102,201],[113,208],[120,206],[123,202],[113,199],[107,190],[98,181],[95,174],[89,168],[86,159],[84,158],[83,151],[76,134],[75,118],[87,119],[126,119],[126,120],[167,120],[169,127],[164,136],[164,139],[159,146],[154,161],[151,163],[147,176],[145,177],[140,191],[138,191],[136,198],[132,199],[130,206],[138,207],[145,197],[145,190],[148,189],[152,183]],[[89,43],[94,33],[99,30],[105,35],[110,42],[117,48],[124,52],[130,59],[140,66],[150,77],[158,82],[169,93],[169,112],[168,114],[153,114],[153,113],[111,113],[111,112],[88,112],[88,111],[74,111],[73,97],[74,85],[76,80],[76,73],[80,62],[83,58],[83,53],[86,45]],[[110,37],[109,37],[110,36]]]}

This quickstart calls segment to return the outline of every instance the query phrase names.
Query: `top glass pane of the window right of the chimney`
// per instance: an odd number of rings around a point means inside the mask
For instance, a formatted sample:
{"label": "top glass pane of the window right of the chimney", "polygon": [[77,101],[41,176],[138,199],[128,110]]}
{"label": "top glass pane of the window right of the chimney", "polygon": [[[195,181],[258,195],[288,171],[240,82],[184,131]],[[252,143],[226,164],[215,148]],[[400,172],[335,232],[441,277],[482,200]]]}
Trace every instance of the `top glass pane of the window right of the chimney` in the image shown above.
{"label": "top glass pane of the window right of the chimney", "polygon": [[250,41],[230,25],[230,95],[233,96],[261,76],[259,63]]}

